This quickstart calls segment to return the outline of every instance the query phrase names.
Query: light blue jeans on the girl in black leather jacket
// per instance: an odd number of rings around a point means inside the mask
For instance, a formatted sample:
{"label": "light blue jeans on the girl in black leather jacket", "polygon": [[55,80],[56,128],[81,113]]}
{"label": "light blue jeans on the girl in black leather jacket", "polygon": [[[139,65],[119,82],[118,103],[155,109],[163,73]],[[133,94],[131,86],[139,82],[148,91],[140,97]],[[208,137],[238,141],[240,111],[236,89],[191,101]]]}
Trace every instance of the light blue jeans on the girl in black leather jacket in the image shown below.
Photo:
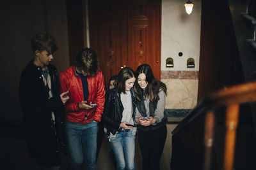
{"label": "light blue jeans on the girl in black leather jacket", "polygon": [[117,170],[135,169],[135,136],[132,135],[132,131],[118,132],[115,138],[111,138],[110,145],[115,153]]}

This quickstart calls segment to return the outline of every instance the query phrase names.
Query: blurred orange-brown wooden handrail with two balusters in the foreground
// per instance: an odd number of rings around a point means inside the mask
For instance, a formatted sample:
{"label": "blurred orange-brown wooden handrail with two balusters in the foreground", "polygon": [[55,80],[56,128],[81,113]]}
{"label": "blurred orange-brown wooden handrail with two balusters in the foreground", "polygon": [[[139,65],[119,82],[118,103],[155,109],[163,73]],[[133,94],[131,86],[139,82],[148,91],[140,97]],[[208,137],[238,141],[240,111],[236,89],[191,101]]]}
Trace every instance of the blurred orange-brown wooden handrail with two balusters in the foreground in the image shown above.
{"label": "blurred orange-brown wooden handrail with two balusters in the foreground", "polygon": [[256,82],[244,83],[225,88],[207,97],[209,108],[205,116],[205,161],[204,169],[211,167],[211,150],[214,141],[214,109],[227,106],[226,135],[223,170],[232,170],[234,164],[234,150],[236,144],[236,128],[239,118],[239,104],[256,101]]}

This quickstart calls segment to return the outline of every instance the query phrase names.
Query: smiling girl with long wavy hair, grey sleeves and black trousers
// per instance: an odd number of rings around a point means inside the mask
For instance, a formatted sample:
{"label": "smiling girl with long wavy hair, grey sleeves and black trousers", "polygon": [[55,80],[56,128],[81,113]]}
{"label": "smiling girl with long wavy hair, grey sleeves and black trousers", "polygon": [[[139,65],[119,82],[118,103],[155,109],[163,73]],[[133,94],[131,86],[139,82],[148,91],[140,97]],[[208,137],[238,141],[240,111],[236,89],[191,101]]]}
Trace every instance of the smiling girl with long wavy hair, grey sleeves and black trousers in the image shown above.
{"label": "smiling girl with long wavy hair, grey sleeves and black trousers", "polygon": [[164,112],[166,85],[154,78],[148,64],[140,65],[135,73],[134,91],[138,94],[136,124],[142,154],[143,170],[160,169],[159,163],[166,140],[167,117]]}

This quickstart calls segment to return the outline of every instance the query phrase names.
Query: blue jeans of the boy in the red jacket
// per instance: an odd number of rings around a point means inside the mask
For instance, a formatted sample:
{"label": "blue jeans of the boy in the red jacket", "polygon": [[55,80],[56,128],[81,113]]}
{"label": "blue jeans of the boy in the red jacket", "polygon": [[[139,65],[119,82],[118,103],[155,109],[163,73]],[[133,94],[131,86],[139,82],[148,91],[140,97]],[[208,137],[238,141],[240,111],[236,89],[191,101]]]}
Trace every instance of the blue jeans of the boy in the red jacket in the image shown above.
{"label": "blue jeans of the boy in the red jacket", "polygon": [[69,169],[96,168],[97,122],[77,124],[66,122],[67,143],[70,152]]}

